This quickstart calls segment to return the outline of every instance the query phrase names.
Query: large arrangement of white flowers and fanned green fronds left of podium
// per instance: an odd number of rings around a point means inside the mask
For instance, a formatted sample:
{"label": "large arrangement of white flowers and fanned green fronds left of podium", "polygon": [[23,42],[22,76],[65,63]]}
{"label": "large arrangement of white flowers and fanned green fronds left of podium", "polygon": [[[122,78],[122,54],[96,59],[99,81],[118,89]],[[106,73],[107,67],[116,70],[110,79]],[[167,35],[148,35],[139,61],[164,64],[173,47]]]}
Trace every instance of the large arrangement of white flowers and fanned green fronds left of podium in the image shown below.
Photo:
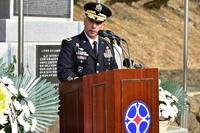
{"label": "large arrangement of white flowers and fanned green fronds left of podium", "polygon": [[0,133],[45,132],[58,117],[55,86],[40,77],[15,76],[0,59]]}

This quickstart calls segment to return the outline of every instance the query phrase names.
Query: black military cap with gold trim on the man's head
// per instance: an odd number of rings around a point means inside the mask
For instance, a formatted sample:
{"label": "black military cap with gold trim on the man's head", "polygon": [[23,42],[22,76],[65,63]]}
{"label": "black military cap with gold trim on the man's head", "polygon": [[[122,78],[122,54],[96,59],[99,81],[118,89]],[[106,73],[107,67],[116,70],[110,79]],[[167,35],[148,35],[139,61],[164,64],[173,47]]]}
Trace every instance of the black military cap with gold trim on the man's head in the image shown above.
{"label": "black military cap with gold trim on the man's head", "polygon": [[111,10],[101,3],[89,2],[84,5],[85,15],[95,22],[104,22],[112,15]]}

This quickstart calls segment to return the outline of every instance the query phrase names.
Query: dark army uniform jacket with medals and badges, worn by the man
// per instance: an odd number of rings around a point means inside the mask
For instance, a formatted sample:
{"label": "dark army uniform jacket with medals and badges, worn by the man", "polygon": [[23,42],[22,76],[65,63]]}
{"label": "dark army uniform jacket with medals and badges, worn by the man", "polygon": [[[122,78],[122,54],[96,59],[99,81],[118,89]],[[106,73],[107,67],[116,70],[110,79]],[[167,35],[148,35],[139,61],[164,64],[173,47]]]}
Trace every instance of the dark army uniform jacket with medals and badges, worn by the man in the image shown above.
{"label": "dark army uniform jacket with medals and badges, worn by the man", "polygon": [[84,32],[62,41],[58,57],[58,79],[63,82],[75,77],[117,69],[113,50],[106,40],[98,38],[98,55]]}

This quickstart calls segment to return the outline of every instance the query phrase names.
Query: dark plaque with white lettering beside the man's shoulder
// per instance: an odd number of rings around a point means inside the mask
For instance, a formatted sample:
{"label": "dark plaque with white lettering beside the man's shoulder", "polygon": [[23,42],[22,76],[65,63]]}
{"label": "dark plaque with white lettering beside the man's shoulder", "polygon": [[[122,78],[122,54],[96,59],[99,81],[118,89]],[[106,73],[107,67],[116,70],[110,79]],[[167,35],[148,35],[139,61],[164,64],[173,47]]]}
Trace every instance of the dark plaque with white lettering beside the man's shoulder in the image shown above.
{"label": "dark plaque with white lettering beside the man's shoulder", "polygon": [[60,45],[36,45],[36,76],[47,79],[56,86],[59,84],[57,78],[57,60]]}

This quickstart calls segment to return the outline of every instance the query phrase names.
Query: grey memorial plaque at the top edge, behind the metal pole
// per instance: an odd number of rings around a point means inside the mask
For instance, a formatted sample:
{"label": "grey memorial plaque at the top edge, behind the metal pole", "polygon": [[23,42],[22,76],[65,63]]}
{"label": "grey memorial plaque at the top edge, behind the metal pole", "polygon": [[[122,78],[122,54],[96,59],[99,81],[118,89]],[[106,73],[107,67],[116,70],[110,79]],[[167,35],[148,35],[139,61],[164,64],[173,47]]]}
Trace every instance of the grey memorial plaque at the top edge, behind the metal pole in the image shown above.
{"label": "grey memorial plaque at the top edge, behind the metal pole", "polygon": [[[14,15],[18,15],[14,0]],[[24,0],[24,16],[71,18],[71,0]]]}

